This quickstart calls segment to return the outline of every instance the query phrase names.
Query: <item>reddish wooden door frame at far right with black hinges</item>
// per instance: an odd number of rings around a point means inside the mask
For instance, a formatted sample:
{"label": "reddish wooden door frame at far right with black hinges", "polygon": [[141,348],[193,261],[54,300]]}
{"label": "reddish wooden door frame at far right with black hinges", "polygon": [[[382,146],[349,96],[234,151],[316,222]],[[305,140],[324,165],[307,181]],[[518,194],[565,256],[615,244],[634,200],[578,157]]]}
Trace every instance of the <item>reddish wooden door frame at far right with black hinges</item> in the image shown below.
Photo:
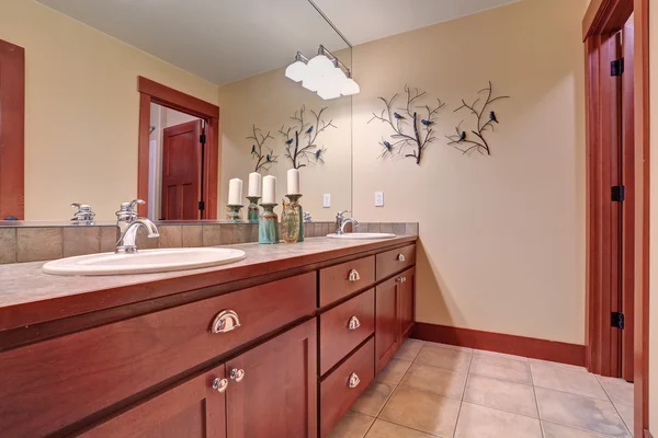
{"label": "reddish wooden door frame at far right with black hinges", "polygon": [[[635,430],[634,436],[648,436],[649,394],[649,0],[591,0],[582,21],[582,37],[586,47],[586,106],[587,106],[587,365],[590,371],[601,374],[605,369],[603,358],[609,354],[605,325],[610,324],[604,313],[605,298],[610,285],[602,275],[604,260],[610,260],[610,246],[602,245],[604,222],[599,214],[604,198],[610,196],[610,186],[597,173],[601,165],[603,132],[609,132],[610,108],[601,104],[605,94],[601,72],[609,68],[601,46],[611,33],[624,28],[634,14],[634,113],[635,141],[633,147],[634,235],[626,244],[632,245],[634,273],[635,319]],[[603,87],[602,87],[603,85]],[[609,199],[609,198],[608,198]],[[610,339],[608,339],[610,341]],[[606,347],[608,345],[608,347]]]}

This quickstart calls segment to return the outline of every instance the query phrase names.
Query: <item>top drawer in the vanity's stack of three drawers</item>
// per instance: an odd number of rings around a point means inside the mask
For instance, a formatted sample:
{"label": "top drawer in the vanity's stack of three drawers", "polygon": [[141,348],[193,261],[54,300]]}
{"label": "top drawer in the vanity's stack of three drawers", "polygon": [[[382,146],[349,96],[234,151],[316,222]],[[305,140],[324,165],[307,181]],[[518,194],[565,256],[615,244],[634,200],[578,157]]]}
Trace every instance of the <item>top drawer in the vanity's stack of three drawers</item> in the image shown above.
{"label": "top drawer in the vanity's stack of three drawers", "polygon": [[320,269],[320,307],[375,283],[375,256]]}

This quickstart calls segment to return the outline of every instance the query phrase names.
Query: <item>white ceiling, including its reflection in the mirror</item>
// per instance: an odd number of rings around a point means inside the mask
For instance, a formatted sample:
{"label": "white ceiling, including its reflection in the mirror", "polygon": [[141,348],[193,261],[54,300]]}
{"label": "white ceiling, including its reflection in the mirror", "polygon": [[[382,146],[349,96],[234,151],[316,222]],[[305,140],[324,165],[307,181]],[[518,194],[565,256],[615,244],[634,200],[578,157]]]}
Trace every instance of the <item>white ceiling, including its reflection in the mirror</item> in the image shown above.
{"label": "white ceiling, including its reflection in the mirror", "polygon": [[[308,0],[37,0],[213,83],[348,47]],[[518,0],[316,0],[352,45]],[[345,13],[349,11],[349,13]],[[348,61],[344,60],[343,61]],[[345,62],[348,64],[348,62]]]}

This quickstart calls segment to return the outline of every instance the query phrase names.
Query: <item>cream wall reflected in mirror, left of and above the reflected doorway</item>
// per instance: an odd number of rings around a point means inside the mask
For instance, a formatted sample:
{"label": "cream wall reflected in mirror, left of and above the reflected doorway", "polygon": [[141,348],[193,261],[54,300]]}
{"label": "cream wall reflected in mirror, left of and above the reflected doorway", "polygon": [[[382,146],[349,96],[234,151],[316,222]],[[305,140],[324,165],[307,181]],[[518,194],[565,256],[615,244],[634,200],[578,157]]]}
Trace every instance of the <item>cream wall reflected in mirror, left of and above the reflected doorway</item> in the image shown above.
{"label": "cream wall reflected in mirror, left of and above the reflected doorway", "polygon": [[137,195],[137,77],[217,103],[217,87],[33,0],[0,1],[0,38],[25,48],[25,217],[114,219]]}

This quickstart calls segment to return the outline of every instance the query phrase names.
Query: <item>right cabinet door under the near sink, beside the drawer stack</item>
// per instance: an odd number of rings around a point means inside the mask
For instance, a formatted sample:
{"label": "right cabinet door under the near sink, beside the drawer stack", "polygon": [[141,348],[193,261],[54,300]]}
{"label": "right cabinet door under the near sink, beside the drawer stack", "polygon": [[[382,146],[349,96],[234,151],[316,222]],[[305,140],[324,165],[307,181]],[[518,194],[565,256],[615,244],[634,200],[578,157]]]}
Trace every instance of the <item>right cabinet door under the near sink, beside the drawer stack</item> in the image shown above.
{"label": "right cabinet door under the near sink, beside the drawer stack", "polygon": [[316,320],[226,364],[228,438],[316,437]]}

